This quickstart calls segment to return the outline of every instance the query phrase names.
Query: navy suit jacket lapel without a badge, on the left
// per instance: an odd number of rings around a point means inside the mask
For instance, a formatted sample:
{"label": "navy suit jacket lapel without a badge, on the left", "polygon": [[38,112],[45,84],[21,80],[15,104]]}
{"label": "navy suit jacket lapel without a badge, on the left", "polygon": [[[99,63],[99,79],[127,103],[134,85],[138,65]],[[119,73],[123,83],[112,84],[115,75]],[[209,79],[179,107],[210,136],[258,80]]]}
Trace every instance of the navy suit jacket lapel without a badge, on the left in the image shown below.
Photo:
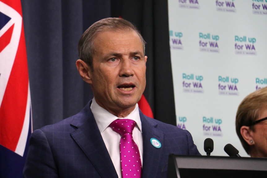
{"label": "navy suit jacket lapel without a badge, on the left", "polygon": [[71,133],[72,138],[81,147],[101,177],[118,177],[90,110],[90,104],[85,106],[78,117],[73,119],[72,125],[77,129]]}

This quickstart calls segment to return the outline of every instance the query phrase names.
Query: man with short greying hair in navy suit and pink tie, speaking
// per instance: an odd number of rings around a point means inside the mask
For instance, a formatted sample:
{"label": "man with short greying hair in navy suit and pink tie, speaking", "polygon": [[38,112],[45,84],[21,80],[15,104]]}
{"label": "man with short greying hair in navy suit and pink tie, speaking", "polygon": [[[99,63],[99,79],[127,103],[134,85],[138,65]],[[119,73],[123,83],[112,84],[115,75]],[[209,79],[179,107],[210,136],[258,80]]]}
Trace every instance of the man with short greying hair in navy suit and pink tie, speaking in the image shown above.
{"label": "man with short greying hair in navy suit and pink tie, speaking", "polygon": [[[120,18],[100,20],[83,33],[78,47],[76,66],[94,98],[77,115],[32,133],[25,178],[166,177],[169,154],[200,155],[188,131],[139,110],[147,56],[145,41],[133,24]],[[134,123],[127,135],[138,156],[131,156],[129,164],[121,155],[125,137],[112,125],[118,119]],[[131,174],[134,171],[138,174]]]}

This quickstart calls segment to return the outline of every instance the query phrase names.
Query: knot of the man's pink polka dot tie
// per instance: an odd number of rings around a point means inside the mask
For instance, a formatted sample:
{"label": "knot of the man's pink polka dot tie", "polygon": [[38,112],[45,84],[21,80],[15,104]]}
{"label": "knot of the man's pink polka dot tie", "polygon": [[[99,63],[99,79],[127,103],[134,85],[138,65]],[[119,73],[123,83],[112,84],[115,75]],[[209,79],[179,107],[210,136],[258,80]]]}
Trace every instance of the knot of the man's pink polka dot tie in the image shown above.
{"label": "knot of the man's pink polka dot tie", "polygon": [[120,135],[125,133],[131,133],[134,130],[135,122],[130,119],[117,119],[114,120],[110,127],[115,131],[118,132]]}

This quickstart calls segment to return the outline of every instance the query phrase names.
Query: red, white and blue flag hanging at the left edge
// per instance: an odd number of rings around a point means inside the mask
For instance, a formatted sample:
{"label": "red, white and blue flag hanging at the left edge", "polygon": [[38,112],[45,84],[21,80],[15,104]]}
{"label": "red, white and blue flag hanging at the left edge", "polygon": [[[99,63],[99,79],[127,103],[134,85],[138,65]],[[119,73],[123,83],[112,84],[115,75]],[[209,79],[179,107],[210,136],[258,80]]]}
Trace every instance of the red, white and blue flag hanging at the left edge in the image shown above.
{"label": "red, white and blue flag hanging at the left edge", "polygon": [[4,172],[16,172],[16,165],[22,175],[31,132],[31,98],[21,2],[0,0],[0,177],[14,177]]}

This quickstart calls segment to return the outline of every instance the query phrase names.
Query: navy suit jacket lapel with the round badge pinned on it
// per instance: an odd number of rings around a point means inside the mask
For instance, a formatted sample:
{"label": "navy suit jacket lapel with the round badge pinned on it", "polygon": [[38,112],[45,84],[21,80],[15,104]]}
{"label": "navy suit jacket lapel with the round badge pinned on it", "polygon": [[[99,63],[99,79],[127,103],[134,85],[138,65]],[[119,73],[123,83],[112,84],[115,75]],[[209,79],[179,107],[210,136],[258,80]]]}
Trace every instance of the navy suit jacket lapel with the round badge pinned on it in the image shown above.
{"label": "navy suit jacket lapel with the round badge pinned on it", "polygon": [[[164,133],[157,131],[157,124],[145,119],[145,116],[140,112],[142,122],[143,136],[143,169],[142,177],[158,177],[157,173],[161,172],[160,166],[162,160],[162,150],[164,149]],[[160,148],[156,148],[151,143],[151,138],[155,138],[161,143]],[[160,169],[160,170],[158,170]]]}

